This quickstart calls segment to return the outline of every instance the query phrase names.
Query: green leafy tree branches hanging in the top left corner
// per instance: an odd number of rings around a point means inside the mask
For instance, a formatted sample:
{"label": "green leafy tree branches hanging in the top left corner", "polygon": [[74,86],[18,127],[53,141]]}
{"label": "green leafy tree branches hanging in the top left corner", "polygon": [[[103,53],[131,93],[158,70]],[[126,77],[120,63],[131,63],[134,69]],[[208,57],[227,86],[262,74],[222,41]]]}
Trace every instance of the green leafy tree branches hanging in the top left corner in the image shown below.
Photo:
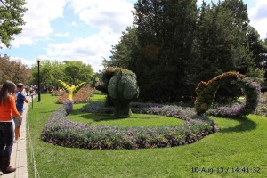
{"label": "green leafy tree branches hanging in the top left corner", "polygon": [[[2,2],[2,3],[1,3]],[[20,34],[21,26],[25,24],[22,19],[24,12],[27,9],[24,7],[25,0],[6,0],[0,4],[0,42],[6,47],[10,47],[13,35]],[[1,46],[0,46],[1,48]]]}

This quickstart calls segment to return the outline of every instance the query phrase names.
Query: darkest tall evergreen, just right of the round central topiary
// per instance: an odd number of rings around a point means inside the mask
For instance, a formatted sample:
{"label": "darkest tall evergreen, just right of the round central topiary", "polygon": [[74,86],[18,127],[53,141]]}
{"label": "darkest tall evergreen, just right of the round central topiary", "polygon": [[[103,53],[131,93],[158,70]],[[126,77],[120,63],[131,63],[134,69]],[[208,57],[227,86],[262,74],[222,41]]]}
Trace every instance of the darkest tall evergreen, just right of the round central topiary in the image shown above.
{"label": "darkest tall evergreen, just right of the round central topiary", "polygon": [[152,101],[181,99],[194,39],[196,0],[139,0],[134,8],[140,47],[134,50],[132,70],[138,77],[140,97]]}

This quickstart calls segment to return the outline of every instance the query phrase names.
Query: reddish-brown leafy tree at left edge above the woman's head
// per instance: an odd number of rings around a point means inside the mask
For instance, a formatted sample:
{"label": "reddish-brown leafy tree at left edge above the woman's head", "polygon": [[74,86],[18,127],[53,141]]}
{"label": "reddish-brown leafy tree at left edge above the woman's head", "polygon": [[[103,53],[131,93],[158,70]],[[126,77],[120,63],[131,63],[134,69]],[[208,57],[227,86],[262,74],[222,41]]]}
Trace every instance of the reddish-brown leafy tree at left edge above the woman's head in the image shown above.
{"label": "reddish-brown leafy tree at left edge above the woman's head", "polygon": [[20,60],[11,60],[7,55],[0,55],[0,69],[0,84],[12,80],[15,84],[22,82],[28,85],[31,80],[31,69]]}

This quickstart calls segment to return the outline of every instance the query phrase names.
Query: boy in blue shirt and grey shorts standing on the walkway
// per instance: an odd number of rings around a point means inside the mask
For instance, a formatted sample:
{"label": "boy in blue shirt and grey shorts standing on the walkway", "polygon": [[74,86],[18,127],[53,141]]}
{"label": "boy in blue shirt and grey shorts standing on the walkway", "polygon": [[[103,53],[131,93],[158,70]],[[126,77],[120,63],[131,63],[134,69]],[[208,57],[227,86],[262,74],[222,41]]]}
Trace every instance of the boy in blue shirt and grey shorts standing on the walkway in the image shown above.
{"label": "boy in blue shirt and grey shorts standing on the walkway", "polygon": [[[22,83],[19,83],[17,85],[17,91],[16,91],[16,107],[19,111],[20,115],[23,114],[23,105],[24,102],[28,103],[28,100],[26,99],[25,95],[22,93],[24,89],[24,85]],[[22,123],[22,120],[17,117],[12,117],[13,121],[15,123],[15,142],[24,142],[24,138],[20,136],[20,126]]]}

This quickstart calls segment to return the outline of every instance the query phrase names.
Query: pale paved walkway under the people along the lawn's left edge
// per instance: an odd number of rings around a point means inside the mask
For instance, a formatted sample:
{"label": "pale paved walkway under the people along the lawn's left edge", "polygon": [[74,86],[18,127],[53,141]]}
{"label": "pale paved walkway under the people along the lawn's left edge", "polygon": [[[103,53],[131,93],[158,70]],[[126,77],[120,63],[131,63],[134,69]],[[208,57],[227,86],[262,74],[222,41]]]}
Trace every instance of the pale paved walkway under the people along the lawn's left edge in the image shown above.
{"label": "pale paved walkway under the people along the lawn's left edge", "polygon": [[[20,127],[21,136],[26,138],[27,135],[27,113],[28,107],[31,107],[31,97],[26,96],[28,103],[24,103],[23,120]],[[26,138],[27,139],[27,138]],[[10,174],[3,174],[0,171],[0,178],[28,178],[28,166],[27,166],[27,151],[25,142],[15,142],[12,147],[11,166],[17,168],[15,172]]]}

